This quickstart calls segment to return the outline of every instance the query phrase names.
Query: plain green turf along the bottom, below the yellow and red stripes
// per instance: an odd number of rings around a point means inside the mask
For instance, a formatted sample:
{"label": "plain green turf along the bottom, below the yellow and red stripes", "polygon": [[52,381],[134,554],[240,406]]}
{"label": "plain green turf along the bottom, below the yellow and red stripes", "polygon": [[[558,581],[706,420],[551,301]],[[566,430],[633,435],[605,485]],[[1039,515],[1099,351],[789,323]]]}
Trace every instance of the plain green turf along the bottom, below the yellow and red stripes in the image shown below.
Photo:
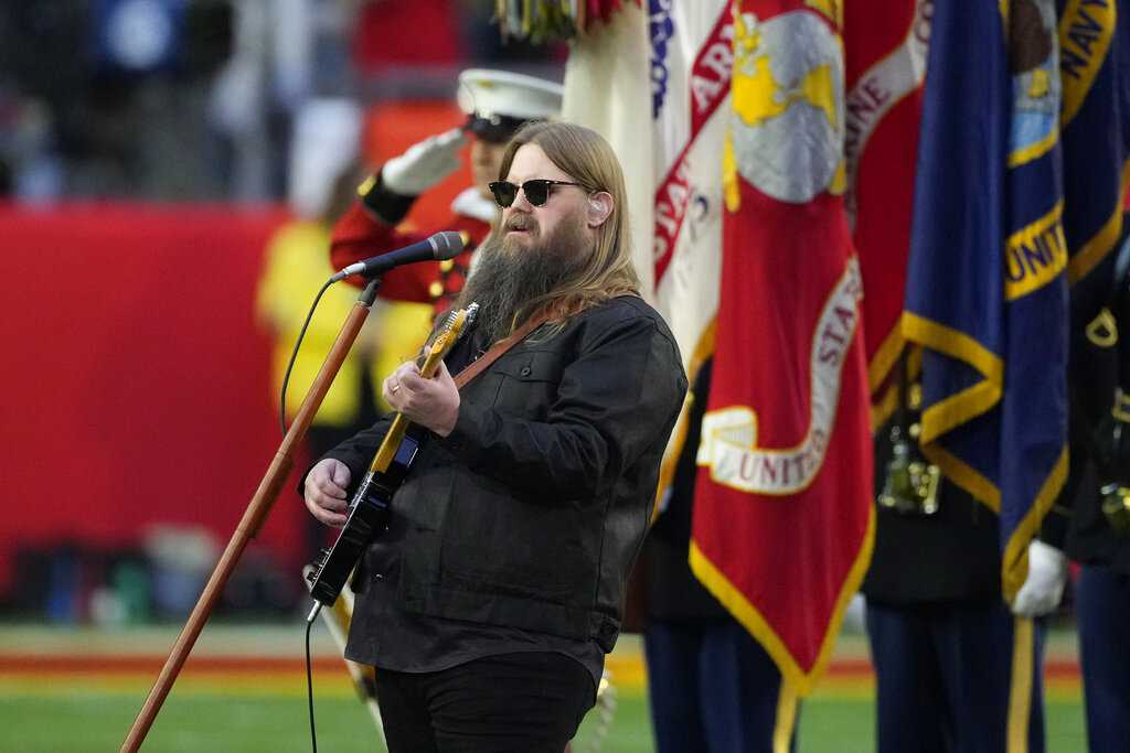
{"label": "plain green turf along the bottom, below the yellow and red stripes", "polygon": [[[21,695],[0,701],[0,734],[6,751],[115,751],[136,713],[140,698],[129,694]],[[381,751],[373,723],[351,699],[316,703],[319,748]],[[872,751],[873,706],[869,700],[817,695],[805,704],[800,750],[812,753]],[[592,737],[591,724],[579,743]],[[1081,709],[1077,702],[1048,707],[1048,751],[1084,753]],[[579,744],[579,748],[582,745]],[[301,698],[223,694],[171,698],[162,709],[145,751],[289,751],[310,750],[306,706]],[[644,697],[621,694],[600,750],[644,753],[652,750]]]}

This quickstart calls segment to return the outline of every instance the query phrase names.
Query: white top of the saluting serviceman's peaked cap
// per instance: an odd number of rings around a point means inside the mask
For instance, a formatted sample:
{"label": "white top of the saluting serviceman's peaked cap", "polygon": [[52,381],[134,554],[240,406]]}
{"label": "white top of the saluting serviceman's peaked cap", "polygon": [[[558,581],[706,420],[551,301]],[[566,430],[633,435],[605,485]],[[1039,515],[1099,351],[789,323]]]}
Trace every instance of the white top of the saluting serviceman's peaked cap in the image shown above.
{"label": "white top of the saluting serviceman's peaked cap", "polygon": [[556,117],[564,88],[545,79],[510,71],[471,68],[459,75],[459,106],[468,115],[518,120]]}

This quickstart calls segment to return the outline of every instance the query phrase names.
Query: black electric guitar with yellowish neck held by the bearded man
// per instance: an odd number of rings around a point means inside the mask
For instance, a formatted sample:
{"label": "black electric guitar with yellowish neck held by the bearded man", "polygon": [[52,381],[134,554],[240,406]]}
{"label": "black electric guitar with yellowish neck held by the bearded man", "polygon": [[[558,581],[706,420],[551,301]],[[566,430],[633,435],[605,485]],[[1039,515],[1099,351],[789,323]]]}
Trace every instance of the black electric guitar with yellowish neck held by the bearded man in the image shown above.
{"label": "black electric guitar with yellowish neck held by the bearded man", "polygon": [[[447,315],[443,329],[424,356],[420,376],[431,378],[435,375],[444,356],[459,341],[477,313],[478,304],[471,304]],[[370,542],[389,526],[392,496],[408,475],[419,450],[419,443],[406,436],[408,424],[408,419],[401,413],[393,417],[392,426],[384,435],[368,472],[349,500],[346,524],[337,541],[329,549],[322,550],[318,561],[306,573],[310,594],[320,604],[333,606]]]}

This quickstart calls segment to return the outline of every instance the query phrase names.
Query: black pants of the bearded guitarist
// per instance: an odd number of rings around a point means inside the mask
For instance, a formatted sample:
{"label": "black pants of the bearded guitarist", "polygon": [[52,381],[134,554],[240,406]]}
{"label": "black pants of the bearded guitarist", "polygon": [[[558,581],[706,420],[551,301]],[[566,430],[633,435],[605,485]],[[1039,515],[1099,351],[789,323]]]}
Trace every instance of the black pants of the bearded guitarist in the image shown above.
{"label": "black pants of the bearded guitarist", "polygon": [[442,672],[376,671],[390,753],[562,753],[596,702],[564,654],[488,656]]}

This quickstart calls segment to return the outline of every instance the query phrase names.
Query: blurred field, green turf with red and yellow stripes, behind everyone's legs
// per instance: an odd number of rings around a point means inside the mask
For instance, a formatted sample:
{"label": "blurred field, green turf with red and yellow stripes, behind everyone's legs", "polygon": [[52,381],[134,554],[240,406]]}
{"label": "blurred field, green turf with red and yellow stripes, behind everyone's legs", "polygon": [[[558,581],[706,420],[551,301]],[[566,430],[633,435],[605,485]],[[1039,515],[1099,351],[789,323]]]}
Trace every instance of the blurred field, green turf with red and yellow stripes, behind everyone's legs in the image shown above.
{"label": "blurred field, green turf with red and yellow stripes, behind everyone's legs", "polygon": [[[116,751],[174,638],[175,630],[168,629],[103,633],[0,627],[0,751]],[[1050,655],[1071,658],[1072,638],[1053,640]],[[383,750],[375,742],[372,719],[334,664],[334,650],[324,636],[315,640],[319,748]],[[861,639],[846,639],[837,656],[850,662],[861,650],[866,651]],[[308,751],[301,651],[297,625],[209,627],[142,750]],[[602,751],[653,748],[638,651],[638,641],[628,637],[610,662],[620,680]],[[240,657],[246,656],[261,662],[241,669]],[[208,664],[217,658],[218,664]],[[801,708],[800,751],[872,751],[873,681],[858,673],[834,675],[835,668]],[[1077,677],[1054,678],[1048,694],[1048,751],[1083,753]],[[579,753],[592,750],[593,721],[590,718],[582,727]]]}

